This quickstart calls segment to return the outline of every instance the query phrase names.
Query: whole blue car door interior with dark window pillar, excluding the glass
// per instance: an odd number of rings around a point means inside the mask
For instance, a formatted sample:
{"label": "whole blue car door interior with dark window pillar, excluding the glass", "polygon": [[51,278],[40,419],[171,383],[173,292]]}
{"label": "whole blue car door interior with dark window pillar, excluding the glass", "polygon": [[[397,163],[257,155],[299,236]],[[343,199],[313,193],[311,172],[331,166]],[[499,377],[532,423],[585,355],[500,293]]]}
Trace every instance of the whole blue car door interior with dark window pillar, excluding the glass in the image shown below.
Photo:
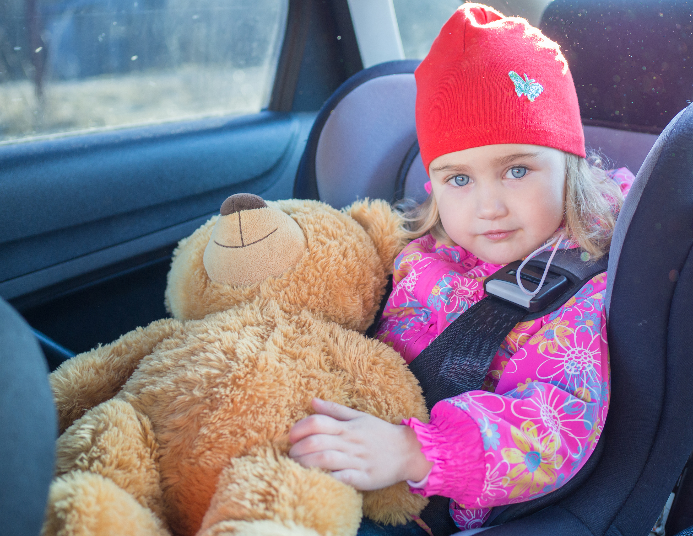
{"label": "whole blue car door interior with dark window pillar, excluding the glass", "polygon": [[317,110],[361,68],[346,0],[289,0],[258,114],[0,143],[0,296],[65,355],[167,316],[177,242],[228,195],[292,197]]}

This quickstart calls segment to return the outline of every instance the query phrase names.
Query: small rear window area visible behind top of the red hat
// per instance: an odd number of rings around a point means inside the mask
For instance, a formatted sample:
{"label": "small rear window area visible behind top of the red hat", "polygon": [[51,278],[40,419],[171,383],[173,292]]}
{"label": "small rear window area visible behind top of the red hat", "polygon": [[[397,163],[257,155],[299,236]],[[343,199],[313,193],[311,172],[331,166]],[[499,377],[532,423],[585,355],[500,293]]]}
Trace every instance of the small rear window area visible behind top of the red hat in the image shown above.
{"label": "small rear window area visible behind top of the red hat", "polygon": [[[405,57],[422,59],[450,15],[462,5],[459,0],[393,0]],[[508,17],[525,17],[538,26],[550,0],[484,0]]]}

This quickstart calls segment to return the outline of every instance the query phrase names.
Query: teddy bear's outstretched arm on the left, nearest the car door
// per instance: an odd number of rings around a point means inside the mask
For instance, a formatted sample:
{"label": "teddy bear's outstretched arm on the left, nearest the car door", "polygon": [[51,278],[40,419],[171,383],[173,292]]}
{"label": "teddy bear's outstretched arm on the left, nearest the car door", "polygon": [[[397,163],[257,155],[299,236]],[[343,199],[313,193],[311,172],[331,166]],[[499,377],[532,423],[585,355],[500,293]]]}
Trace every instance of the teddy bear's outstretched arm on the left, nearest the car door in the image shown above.
{"label": "teddy bear's outstretched arm on the left, nearest the car door", "polygon": [[87,410],[114,397],[139,361],[158,343],[181,329],[182,323],[177,320],[157,320],[60,365],[49,375],[60,434]]}

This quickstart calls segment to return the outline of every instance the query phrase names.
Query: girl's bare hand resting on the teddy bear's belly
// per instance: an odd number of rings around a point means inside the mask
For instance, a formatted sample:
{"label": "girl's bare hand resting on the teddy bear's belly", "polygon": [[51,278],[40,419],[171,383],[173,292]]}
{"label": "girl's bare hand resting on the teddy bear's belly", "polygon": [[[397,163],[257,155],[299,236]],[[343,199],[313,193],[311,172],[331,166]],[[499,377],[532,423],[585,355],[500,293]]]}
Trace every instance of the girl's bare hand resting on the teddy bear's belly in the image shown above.
{"label": "girl's bare hand resting on the teddy bear's belly", "polygon": [[319,398],[313,398],[313,409],[318,414],[299,420],[289,433],[289,456],[304,467],[330,470],[357,490],[380,490],[420,481],[433,465],[410,427]]}

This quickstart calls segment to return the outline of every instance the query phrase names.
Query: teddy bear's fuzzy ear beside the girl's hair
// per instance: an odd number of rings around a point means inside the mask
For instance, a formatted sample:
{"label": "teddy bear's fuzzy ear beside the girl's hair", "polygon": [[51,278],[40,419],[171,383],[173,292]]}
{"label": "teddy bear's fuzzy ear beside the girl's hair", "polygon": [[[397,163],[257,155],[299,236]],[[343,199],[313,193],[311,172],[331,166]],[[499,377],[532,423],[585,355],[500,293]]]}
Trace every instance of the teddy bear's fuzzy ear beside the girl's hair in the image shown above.
{"label": "teddy bear's fuzzy ear beside the girl's hair", "polygon": [[365,229],[376,244],[378,256],[383,261],[385,273],[392,271],[394,258],[408,242],[403,217],[383,199],[368,198],[342,208]]}

